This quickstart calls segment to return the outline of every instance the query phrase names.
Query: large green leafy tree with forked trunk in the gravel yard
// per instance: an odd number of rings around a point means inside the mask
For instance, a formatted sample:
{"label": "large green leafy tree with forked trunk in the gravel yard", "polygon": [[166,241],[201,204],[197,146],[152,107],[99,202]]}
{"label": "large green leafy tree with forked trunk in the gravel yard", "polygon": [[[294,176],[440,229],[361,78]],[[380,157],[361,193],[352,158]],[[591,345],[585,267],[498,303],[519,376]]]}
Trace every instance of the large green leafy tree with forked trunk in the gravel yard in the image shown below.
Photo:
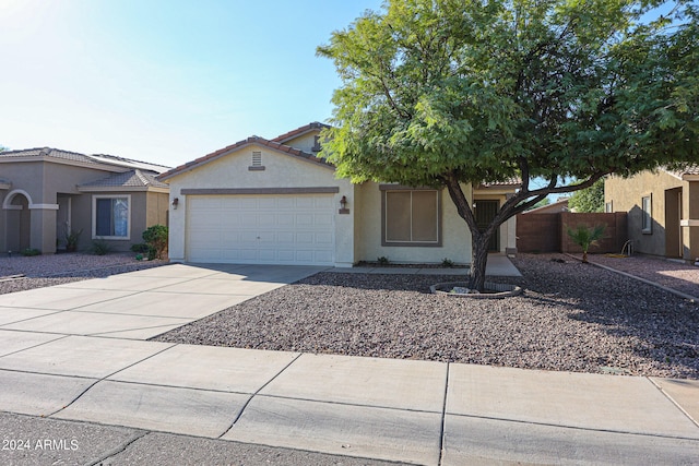
{"label": "large green leafy tree with forked trunk in the gravel yard", "polygon": [[[317,50],[342,79],[322,154],[354,182],[446,188],[483,289],[490,237],[546,195],[699,160],[698,15],[641,21],[661,3],[386,1]],[[479,229],[464,187],[512,178]]]}

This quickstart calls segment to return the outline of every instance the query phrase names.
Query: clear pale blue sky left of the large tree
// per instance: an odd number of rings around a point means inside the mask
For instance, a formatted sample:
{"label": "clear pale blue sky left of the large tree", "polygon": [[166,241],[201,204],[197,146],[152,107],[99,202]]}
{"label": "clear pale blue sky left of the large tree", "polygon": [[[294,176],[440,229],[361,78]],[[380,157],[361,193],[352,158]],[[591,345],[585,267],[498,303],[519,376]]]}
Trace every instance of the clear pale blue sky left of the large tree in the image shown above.
{"label": "clear pale blue sky left of the large tree", "polygon": [[332,112],[316,47],[381,0],[0,0],[0,145],[177,166]]}

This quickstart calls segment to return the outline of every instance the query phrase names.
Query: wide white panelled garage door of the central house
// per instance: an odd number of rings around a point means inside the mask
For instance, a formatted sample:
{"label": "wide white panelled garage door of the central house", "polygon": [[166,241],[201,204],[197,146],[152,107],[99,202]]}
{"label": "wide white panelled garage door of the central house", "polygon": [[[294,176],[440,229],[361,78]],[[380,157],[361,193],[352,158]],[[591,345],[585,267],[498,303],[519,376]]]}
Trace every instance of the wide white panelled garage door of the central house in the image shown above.
{"label": "wide white panelled garage door of the central house", "polygon": [[332,194],[190,195],[190,262],[334,263]]}

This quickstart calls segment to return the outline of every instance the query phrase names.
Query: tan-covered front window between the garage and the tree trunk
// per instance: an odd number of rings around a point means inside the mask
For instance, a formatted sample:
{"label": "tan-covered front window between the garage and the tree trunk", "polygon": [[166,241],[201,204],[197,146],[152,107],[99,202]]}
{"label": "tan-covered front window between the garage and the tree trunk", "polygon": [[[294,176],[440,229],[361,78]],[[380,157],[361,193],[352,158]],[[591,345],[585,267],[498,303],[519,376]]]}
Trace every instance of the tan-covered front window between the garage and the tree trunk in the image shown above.
{"label": "tan-covered front window between the garage and the tree trunk", "polygon": [[383,246],[441,246],[439,192],[383,190]]}

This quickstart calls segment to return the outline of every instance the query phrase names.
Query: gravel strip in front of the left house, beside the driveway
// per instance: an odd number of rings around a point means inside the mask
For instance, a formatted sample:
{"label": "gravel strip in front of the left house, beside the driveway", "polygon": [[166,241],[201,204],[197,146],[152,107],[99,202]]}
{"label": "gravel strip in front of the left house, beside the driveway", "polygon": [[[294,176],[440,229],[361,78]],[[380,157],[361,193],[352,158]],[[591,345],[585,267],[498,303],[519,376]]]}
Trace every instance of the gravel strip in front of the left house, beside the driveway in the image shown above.
{"label": "gravel strip in front of the left house, beside the driveway", "polygon": [[[0,295],[125,272],[151,268],[166,261],[137,261],[133,253],[105,255],[71,252],[52,255],[0,258]],[[15,275],[24,277],[11,278]]]}

